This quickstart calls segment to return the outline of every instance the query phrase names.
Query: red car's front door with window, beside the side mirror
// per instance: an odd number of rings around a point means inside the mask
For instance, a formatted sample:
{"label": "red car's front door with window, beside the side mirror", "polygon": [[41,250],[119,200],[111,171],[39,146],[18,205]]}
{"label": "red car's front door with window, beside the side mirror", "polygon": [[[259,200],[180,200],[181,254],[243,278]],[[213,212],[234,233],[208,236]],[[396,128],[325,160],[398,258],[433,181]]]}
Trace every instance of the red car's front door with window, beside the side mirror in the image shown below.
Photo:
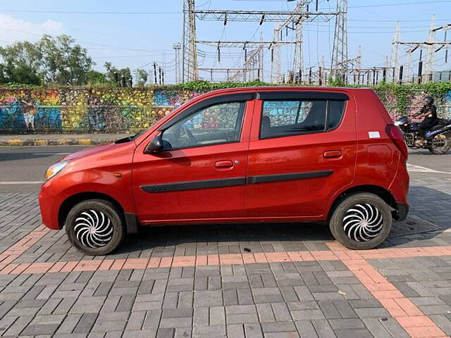
{"label": "red car's front door with window, beside the side mirror", "polygon": [[[254,92],[214,96],[168,120],[135,150],[133,193],[142,223],[240,218]],[[164,150],[144,154],[161,134]]]}

